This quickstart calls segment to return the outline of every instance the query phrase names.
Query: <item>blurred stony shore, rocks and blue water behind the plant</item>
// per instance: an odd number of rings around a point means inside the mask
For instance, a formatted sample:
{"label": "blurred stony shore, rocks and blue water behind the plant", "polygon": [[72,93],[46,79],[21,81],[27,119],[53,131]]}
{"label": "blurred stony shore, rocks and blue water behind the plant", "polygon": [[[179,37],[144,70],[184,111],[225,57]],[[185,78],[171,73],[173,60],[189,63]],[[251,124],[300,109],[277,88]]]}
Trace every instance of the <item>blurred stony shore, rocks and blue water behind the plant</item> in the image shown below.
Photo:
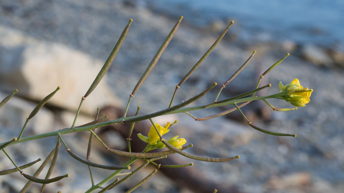
{"label": "blurred stony shore, rocks and blue water behind the plant", "polygon": [[[214,101],[223,84],[252,54],[248,66],[222,91],[219,100],[255,88],[258,77],[287,52],[290,56],[261,85],[270,88],[258,96],[279,92],[278,83],[298,78],[314,92],[307,107],[273,112],[263,101],[242,108],[260,128],[297,134],[280,137],[249,127],[234,111],[226,116],[195,121],[184,113],[154,118],[161,125],[178,120],[166,137],[179,135],[194,147],[186,151],[207,157],[232,157],[224,163],[191,160],[171,155],[162,164],[189,164],[181,169],[159,169],[136,192],[193,193],[342,193],[344,192],[344,3],[333,1],[157,1],[157,0],[0,0],[0,96],[18,93],[0,110],[0,142],[18,137],[35,105],[57,86],[61,90],[28,123],[23,137],[72,125],[83,96],[116,44],[129,19],[133,22],[107,76],[84,101],[77,125],[94,120],[96,108],[107,120],[122,116],[128,95],[156,51],[178,21],[178,31],[152,73],[131,100],[128,115],[152,113],[168,107],[175,85],[203,56],[230,21],[234,24],[200,67],[178,90],[174,105],[218,86],[189,106]],[[292,108],[268,100],[277,108]],[[191,112],[201,118],[233,108]],[[110,148],[127,150],[130,125],[112,125],[96,133]],[[147,135],[150,122],[136,124]],[[132,136],[136,152],[141,141]],[[89,133],[62,136],[68,147],[86,156]],[[18,165],[45,159],[56,137],[7,147]],[[127,158],[109,155],[94,141],[91,161],[120,165]],[[138,160],[132,169],[143,162]],[[23,170],[33,174],[39,167]],[[0,170],[13,168],[0,153]],[[155,169],[147,166],[109,192],[125,192]],[[47,169],[46,169],[47,170]],[[40,178],[45,177],[46,170]],[[112,172],[92,168],[95,182]],[[88,168],[72,159],[61,146],[52,177],[71,177],[49,184],[45,192],[85,192],[90,188]],[[26,183],[19,172],[0,176],[0,192],[19,192]],[[33,184],[28,192],[38,192]]]}

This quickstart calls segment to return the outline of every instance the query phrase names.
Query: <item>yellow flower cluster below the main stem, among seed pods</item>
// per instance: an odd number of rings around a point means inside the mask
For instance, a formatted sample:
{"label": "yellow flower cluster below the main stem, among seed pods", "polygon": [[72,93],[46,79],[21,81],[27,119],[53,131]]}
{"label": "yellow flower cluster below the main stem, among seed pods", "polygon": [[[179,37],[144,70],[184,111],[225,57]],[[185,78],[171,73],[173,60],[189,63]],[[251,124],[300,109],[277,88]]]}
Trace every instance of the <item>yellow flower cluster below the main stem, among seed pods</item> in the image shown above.
{"label": "yellow flower cluster below the main stem, among seed pods", "polygon": [[[164,126],[161,126],[158,123],[155,123],[155,126],[157,127],[160,135],[163,135],[165,133],[168,133],[170,131],[170,129],[168,129],[168,128],[176,122],[177,121],[174,121],[172,124],[170,124],[170,122],[167,122],[167,124],[165,124]],[[158,133],[155,130],[153,125],[151,126],[151,128],[149,130],[148,137],[142,135],[141,133],[137,134],[137,136],[139,136],[139,138],[142,141],[149,143],[150,145],[154,146],[151,149],[153,149],[153,148],[162,149],[165,147],[165,145],[160,141],[159,135],[158,135]],[[181,149],[182,146],[186,143],[186,140],[184,138],[178,138],[178,137],[179,136],[176,135],[176,136],[170,138],[169,141],[167,141],[167,143],[173,145],[174,147],[176,147],[178,149]]]}

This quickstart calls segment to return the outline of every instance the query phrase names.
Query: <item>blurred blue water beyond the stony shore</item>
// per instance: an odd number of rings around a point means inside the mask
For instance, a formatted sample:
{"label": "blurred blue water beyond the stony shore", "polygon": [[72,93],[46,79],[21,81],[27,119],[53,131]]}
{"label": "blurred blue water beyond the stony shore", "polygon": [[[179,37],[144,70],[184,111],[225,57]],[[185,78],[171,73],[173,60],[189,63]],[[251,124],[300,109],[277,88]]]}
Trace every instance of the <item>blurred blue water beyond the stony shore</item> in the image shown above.
{"label": "blurred blue water beyond the stony shore", "polygon": [[291,40],[298,44],[344,45],[343,0],[148,0],[150,6],[183,15],[195,25],[233,19],[243,40]]}

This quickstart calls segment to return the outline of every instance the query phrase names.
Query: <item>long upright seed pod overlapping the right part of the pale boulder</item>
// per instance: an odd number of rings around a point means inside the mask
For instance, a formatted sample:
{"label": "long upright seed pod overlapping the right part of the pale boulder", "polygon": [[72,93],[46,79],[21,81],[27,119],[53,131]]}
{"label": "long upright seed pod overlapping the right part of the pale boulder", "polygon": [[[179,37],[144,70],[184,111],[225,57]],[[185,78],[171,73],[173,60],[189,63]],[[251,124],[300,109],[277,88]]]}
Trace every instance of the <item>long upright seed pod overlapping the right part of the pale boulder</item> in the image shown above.
{"label": "long upright seed pod overlapping the right part of the pale boulder", "polygon": [[129,23],[127,24],[127,26],[124,28],[121,36],[119,37],[117,44],[115,45],[114,49],[112,50],[112,52],[110,53],[110,56],[108,57],[108,59],[105,61],[105,64],[103,65],[103,67],[100,69],[97,77],[94,79],[92,85],[89,87],[88,91],[85,94],[85,98],[92,93],[92,91],[96,88],[96,86],[99,84],[99,82],[101,81],[101,79],[103,78],[103,76],[105,75],[105,73],[108,71],[108,69],[110,68],[112,62],[114,61],[118,50],[121,48],[124,39],[127,36],[130,24],[132,22],[132,19],[129,20]]}

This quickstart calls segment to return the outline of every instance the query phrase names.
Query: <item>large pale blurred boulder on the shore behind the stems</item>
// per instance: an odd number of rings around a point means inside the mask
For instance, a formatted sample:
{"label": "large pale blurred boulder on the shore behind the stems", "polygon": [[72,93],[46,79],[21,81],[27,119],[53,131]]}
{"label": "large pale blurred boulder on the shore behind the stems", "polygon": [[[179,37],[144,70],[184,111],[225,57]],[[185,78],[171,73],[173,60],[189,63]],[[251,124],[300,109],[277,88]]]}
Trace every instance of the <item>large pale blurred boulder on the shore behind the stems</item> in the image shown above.
{"label": "large pale blurred boulder on the shore behind the stems", "polygon": [[[104,64],[64,45],[25,37],[4,27],[0,27],[0,35],[0,89],[17,88],[17,96],[40,101],[61,86],[49,103],[76,111]],[[104,76],[86,98],[81,112],[93,114],[97,107],[108,104],[121,106],[106,79]]]}

